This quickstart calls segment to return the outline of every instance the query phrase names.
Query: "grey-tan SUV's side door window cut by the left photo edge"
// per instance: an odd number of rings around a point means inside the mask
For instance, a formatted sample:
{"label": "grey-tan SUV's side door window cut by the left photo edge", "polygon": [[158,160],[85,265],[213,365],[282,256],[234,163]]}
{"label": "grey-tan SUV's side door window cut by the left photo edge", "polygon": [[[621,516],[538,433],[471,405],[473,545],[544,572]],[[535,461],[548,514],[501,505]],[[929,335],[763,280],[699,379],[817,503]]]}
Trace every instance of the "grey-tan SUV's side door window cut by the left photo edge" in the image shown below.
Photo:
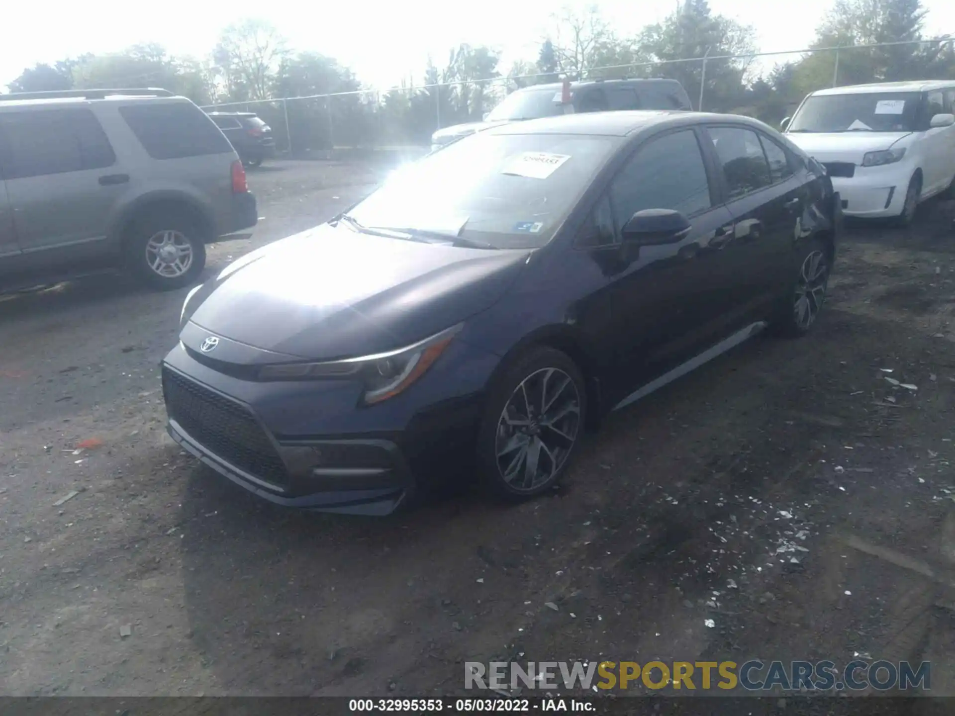
{"label": "grey-tan SUV's side door window cut by the left photo edge", "polygon": [[0,113],[5,141],[0,164],[6,179],[101,169],[116,154],[99,120],[88,109]]}

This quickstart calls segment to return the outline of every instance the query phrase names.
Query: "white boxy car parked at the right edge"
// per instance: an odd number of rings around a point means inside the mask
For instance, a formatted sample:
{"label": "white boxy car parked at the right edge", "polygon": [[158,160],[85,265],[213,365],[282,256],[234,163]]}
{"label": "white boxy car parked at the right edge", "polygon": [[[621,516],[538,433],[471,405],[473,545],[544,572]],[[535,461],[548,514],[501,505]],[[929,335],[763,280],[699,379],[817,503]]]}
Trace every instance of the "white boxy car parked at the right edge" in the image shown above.
{"label": "white boxy car parked at the right edge", "polygon": [[912,221],[920,201],[955,195],[955,80],[819,90],[786,137],[816,158],[856,217]]}

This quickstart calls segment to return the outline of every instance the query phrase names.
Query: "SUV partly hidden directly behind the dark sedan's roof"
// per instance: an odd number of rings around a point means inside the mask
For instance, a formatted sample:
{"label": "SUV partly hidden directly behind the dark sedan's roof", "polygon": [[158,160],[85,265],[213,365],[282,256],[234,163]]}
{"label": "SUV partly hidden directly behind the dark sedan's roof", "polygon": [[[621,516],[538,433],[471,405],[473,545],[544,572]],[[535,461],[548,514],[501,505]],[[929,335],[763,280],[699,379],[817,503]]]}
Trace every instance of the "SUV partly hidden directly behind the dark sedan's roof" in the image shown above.
{"label": "SUV partly hidden directly behind the dark sedan's roof", "polygon": [[439,129],[432,150],[456,139],[522,119],[613,110],[691,110],[690,97],[675,79],[594,79],[533,85],[507,95],[484,121]]}

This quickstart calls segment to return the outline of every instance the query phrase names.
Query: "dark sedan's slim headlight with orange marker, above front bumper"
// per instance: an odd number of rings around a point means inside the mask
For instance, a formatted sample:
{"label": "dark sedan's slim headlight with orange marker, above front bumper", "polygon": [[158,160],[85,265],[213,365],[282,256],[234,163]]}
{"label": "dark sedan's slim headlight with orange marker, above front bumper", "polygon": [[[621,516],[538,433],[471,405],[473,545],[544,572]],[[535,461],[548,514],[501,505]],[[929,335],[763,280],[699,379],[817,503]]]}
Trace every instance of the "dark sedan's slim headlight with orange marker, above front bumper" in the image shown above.
{"label": "dark sedan's slim headlight with orange marker, above front bumper", "polygon": [[387,353],[347,358],[325,363],[282,363],[259,369],[260,380],[310,380],[318,378],[354,378],[360,380],[367,405],[397,395],[434,365],[463,324],[451,326],[413,346]]}

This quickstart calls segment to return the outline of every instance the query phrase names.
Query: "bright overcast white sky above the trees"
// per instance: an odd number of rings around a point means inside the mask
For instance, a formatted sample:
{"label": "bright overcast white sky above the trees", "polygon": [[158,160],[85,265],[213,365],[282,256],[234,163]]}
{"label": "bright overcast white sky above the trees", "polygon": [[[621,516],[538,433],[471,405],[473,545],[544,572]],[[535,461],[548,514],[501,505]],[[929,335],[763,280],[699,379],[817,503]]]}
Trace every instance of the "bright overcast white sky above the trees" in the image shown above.
{"label": "bright overcast white sky above the trees", "polygon": [[[429,54],[442,65],[460,43],[489,45],[502,53],[506,73],[515,59],[535,59],[549,16],[562,5],[583,9],[594,0],[448,0],[386,2],[264,3],[232,0],[228,4],[164,0],[161,10],[143,11],[128,0],[90,3],[12,2],[4,8],[0,42],[0,86],[37,62],[54,62],[81,53],[112,53],[130,45],[157,42],[169,53],[202,57],[231,22],[256,17],[272,23],[295,50],[335,57],[370,87],[387,88],[403,78],[421,80]],[[675,10],[677,0],[596,3],[620,35],[631,35]],[[710,0],[712,11],[753,27],[762,52],[799,50],[813,39],[832,0]],[[158,6],[159,7],[159,6]],[[955,34],[955,2],[923,0],[927,34]],[[794,55],[790,55],[792,58]],[[772,67],[775,60],[764,60]]]}

